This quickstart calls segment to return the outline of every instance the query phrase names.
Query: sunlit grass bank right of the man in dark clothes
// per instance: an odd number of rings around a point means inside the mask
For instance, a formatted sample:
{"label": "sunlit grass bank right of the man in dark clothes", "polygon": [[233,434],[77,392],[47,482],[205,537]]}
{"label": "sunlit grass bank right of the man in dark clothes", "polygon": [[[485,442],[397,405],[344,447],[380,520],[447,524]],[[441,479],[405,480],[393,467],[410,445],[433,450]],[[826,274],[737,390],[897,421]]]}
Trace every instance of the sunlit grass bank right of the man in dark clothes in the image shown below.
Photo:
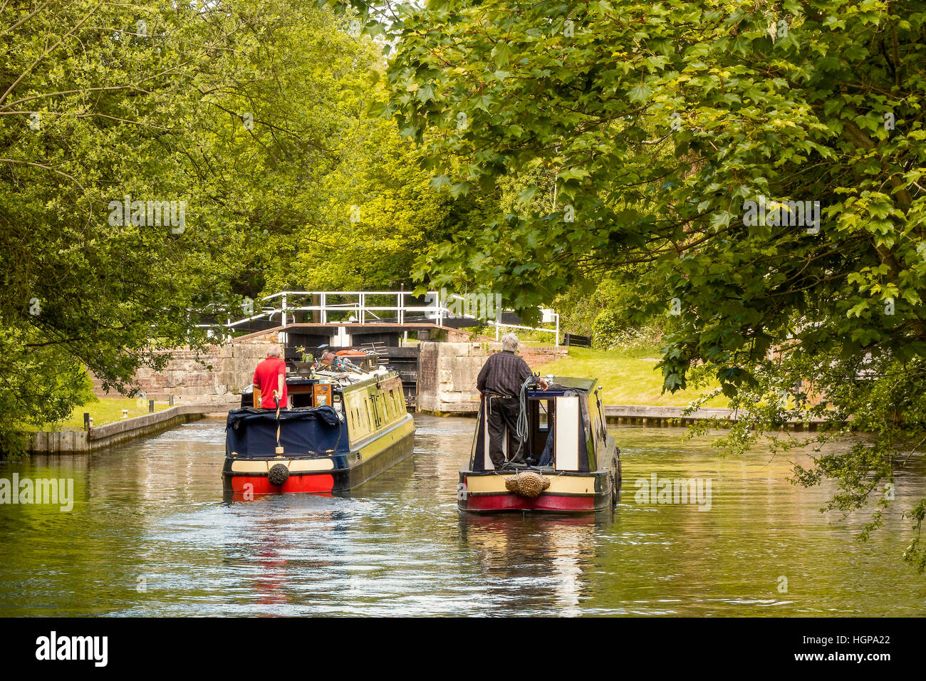
{"label": "sunlit grass bank right of the man in dark clothes", "polygon": [[[662,372],[656,369],[658,347],[634,347],[626,351],[569,347],[569,356],[537,367],[542,376],[552,373],[575,378],[597,378],[605,404],[683,407],[702,393],[717,387],[689,388],[671,395],[662,392]],[[726,397],[713,397],[706,407],[726,407]]]}

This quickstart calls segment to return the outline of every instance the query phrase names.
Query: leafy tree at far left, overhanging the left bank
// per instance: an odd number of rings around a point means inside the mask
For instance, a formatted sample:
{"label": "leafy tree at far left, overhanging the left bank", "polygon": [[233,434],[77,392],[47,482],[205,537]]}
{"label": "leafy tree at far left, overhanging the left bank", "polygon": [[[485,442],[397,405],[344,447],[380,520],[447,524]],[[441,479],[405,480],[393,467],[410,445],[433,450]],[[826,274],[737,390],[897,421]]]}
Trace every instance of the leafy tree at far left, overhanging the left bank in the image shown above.
{"label": "leafy tree at far left, overhanging the left bank", "polygon": [[[163,361],[158,346],[201,340],[187,310],[220,299],[224,238],[191,152],[205,144],[204,93],[239,75],[240,19],[154,2],[5,4],[0,450],[21,447],[10,423],[56,421],[88,397],[84,367],[128,389],[135,368]],[[126,195],[185,201],[186,220],[110,220]]]}

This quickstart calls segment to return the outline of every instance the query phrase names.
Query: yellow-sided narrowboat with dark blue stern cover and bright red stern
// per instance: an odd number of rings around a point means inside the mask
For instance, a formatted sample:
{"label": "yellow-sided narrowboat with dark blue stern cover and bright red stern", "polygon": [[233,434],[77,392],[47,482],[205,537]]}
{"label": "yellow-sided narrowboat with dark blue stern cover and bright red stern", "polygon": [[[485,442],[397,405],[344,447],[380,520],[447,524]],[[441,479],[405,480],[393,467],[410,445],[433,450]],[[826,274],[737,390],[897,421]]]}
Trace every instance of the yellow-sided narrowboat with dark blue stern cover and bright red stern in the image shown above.
{"label": "yellow-sided narrowboat with dark blue stern cover and bright red stern", "polygon": [[250,406],[248,392],[229,412],[222,478],[232,498],[344,494],[412,454],[415,424],[397,372],[319,372],[287,377],[286,389],[280,410]]}

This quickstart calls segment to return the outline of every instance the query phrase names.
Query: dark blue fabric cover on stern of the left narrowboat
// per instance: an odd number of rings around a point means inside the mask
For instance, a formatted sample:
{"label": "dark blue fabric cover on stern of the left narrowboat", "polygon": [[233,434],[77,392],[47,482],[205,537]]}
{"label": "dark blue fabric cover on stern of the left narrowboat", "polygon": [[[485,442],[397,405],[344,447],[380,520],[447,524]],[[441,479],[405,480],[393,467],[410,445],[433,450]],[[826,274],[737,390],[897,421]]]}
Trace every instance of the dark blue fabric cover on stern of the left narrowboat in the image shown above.
{"label": "dark blue fabric cover on stern of the left narrowboat", "polygon": [[[227,447],[238,457],[272,457],[277,446],[277,412],[246,408],[229,412]],[[286,456],[347,451],[346,424],[328,406],[280,410],[280,444]]]}

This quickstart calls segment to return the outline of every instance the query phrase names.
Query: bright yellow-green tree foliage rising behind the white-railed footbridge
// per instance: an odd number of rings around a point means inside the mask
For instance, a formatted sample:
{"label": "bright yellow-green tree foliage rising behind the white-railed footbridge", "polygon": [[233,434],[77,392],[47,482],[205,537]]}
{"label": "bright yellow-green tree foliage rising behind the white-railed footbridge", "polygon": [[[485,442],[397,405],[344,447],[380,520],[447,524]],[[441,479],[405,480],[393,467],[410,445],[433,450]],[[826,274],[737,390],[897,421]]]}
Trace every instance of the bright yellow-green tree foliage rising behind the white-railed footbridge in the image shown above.
{"label": "bright yellow-green tree foliage rising behind the white-railed footbridge", "polygon": [[218,170],[214,198],[236,233],[236,290],[407,281],[448,201],[394,122],[367,114],[384,98],[379,50],[330,10],[277,5],[247,80],[214,97],[203,162]]}

